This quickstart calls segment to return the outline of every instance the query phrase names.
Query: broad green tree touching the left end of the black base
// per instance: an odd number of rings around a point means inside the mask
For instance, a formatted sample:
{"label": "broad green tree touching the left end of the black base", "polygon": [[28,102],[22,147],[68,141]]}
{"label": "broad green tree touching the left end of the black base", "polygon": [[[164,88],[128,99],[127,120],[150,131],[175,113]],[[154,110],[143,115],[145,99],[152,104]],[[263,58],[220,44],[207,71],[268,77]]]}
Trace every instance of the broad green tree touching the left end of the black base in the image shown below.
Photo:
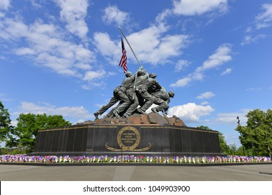
{"label": "broad green tree touching the left end of the black base", "polygon": [[64,127],[72,123],[63,119],[63,116],[47,116],[46,114],[20,114],[17,118],[17,127],[13,131],[13,139],[17,147],[23,147],[25,152],[33,151],[38,130],[52,127]]}

